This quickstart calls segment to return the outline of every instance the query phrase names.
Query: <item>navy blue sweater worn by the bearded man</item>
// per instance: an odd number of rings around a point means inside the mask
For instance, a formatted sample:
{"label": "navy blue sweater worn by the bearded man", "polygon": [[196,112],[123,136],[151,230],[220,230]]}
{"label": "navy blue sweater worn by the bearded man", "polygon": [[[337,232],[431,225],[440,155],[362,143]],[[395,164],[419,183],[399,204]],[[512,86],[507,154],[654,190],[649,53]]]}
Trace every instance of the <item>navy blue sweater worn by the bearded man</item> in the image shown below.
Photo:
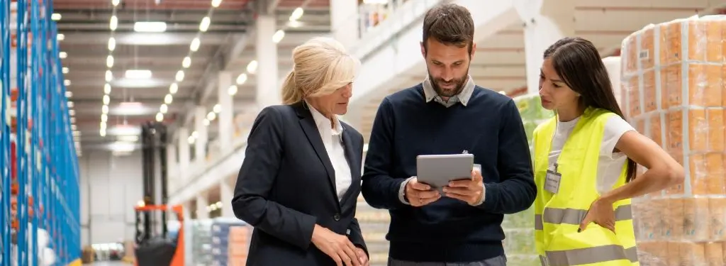
{"label": "navy blue sweater worn by the bearded man", "polygon": [[[399,200],[401,182],[416,175],[416,156],[468,150],[481,164],[481,206],[442,197],[423,207]],[[504,254],[504,214],[531,206],[537,194],[531,157],[513,100],[476,87],[466,106],[425,102],[420,84],[389,95],[375,116],[362,177],[370,206],[388,209],[393,259],[474,262]]]}

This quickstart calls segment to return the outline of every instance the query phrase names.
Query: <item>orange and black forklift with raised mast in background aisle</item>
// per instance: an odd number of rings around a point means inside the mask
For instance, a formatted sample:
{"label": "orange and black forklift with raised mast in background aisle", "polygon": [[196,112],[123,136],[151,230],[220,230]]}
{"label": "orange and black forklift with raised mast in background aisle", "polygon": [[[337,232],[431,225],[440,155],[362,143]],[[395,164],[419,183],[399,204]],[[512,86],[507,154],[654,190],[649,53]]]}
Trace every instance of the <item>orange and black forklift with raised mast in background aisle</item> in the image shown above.
{"label": "orange and black forklift with raised mast in background aisle", "polygon": [[[136,237],[134,238],[134,265],[184,266],[184,209],[181,205],[168,206],[167,195],[167,133],[164,124],[147,122],[142,125],[142,171],[144,200],[134,208]],[[155,164],[155,156],[160,158]],[[160,203],[157,203],[156,170],[160,172]],[[179,232],[170,237],[167,212],[175,214]],[[160,218],[160,219],[159,219]],[[156,225],[160,224],[160,232]]]}

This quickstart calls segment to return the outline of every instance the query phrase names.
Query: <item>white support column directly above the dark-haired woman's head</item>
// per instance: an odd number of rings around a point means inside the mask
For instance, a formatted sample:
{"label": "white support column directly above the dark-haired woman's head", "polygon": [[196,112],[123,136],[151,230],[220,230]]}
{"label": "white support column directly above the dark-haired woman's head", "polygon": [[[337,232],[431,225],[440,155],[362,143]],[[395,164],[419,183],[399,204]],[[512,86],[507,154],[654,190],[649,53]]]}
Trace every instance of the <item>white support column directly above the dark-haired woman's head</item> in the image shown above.
{"label": "white support column directly above the dark-haired woman's head", "polygon": [[524,23],[527,94],[539,91],[542,54],[555,41],[575,35],[575,0],[516,0]]}

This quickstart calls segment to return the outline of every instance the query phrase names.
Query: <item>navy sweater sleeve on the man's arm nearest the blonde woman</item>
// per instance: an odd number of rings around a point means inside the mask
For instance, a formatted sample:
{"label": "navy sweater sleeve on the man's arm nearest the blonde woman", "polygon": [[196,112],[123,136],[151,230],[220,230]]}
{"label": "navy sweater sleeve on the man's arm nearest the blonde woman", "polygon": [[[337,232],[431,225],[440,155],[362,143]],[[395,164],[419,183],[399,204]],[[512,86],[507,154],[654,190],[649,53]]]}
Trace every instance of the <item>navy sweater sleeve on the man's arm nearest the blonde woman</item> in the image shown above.
{"label": "navy sweater sleeve on the man's arm nearest the blonde woman", "polygon": [[368,152],[363,167],[361,192],[365,201],[377,209],[397,209],[407,206],[399,199],[401,183],[406,179],[393,178],[393,111],[388,98],[383,99],[373,121]]}

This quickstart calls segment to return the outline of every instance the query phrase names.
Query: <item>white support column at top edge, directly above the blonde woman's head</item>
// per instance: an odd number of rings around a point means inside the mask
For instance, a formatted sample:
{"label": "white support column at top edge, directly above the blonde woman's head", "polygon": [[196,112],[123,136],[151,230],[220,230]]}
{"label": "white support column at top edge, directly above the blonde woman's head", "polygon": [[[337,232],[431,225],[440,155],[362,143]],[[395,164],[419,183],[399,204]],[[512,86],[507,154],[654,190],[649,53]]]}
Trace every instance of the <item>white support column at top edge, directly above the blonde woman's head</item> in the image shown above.
{"label": "white support column at top edge, directly above the blonde woman's head", "polygon": [[359,40],[358,1],[330,1],[333,38],[350,49]]}

